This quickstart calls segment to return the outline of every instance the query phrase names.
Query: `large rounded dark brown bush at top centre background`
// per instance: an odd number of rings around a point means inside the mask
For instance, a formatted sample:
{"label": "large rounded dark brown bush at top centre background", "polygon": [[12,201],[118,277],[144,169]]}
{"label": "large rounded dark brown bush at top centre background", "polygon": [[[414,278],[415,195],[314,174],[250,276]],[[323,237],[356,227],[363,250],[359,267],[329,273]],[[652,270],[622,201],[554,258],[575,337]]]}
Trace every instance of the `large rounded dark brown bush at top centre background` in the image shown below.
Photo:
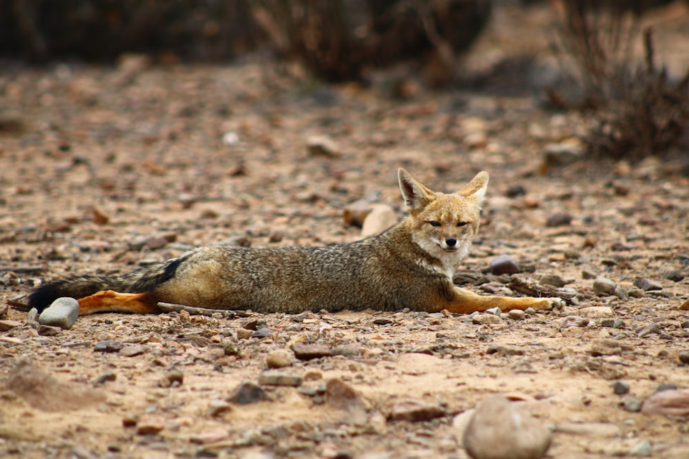
{"label": "large rounded dark brown bush at top centre background", "polygon": [[372,67],[433,60],[435,83],[483,30],[491,0],[263,0],[254,15],[284,54],[328,81],[360,80]]}

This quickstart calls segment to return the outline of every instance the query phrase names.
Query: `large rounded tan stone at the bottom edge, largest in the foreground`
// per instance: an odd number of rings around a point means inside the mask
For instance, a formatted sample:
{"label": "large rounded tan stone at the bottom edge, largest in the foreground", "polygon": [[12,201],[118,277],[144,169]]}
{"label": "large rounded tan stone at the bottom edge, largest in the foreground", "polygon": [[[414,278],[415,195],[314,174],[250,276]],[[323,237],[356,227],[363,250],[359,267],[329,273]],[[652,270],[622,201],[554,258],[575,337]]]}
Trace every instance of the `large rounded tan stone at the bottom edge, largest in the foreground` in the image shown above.
{"label": "large rounded tan stone at the bottom edge, largest in the foreground", "polygon": [[546,425],[494,395],[478,405],[462,442],[473,459],[540,459],[552,439]]}

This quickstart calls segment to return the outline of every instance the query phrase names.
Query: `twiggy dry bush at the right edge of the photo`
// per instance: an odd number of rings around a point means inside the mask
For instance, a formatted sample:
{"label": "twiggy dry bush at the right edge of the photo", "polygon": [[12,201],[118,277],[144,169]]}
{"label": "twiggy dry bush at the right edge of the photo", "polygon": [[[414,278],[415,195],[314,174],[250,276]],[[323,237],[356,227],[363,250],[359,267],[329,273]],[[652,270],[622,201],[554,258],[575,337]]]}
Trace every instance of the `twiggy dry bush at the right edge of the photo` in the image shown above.
{"label": "twiggy dry bush at the right edge of the photo", "polygon": [[[630,8],[637,6],[637,8]],[[661,156],[689,132],[689,70],[671,81],[655,63],[652,30],[640,32],[644,2],[563,0],[560,54],[562,66],[577,85],[566,98],[554,89],[555,105],[593,116],[589,150],[615,159]],[[644,39],[644,61],[634,60],[635,40]]]}

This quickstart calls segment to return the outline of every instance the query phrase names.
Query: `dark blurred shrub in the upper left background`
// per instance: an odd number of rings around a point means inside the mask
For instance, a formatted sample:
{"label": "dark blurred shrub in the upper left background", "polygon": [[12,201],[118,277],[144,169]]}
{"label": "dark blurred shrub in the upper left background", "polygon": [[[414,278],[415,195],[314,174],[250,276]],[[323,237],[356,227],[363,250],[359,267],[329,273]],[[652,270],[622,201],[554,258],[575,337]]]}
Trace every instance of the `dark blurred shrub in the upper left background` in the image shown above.
{"label": "dark blurred shrub in the upper left background", "polygon": [[249,0],[0,0],[0,55],[110,61],[123,52],[236,56],[262,41]]}

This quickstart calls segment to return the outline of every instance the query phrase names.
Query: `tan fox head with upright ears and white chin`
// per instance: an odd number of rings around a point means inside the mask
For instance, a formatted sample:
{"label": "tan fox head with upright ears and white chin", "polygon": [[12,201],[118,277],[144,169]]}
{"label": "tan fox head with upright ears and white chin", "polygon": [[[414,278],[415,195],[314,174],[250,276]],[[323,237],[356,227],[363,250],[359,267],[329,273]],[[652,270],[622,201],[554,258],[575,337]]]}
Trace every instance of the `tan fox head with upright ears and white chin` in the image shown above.
{"label": "tan fox head with upright ears and white chin", "polygon": [[446,267],[454,268],[469,253],[478,232],[488,173],[478,173],[451,194],[429,190],[404,169],[399,169],[398,178],[413,241]]}

